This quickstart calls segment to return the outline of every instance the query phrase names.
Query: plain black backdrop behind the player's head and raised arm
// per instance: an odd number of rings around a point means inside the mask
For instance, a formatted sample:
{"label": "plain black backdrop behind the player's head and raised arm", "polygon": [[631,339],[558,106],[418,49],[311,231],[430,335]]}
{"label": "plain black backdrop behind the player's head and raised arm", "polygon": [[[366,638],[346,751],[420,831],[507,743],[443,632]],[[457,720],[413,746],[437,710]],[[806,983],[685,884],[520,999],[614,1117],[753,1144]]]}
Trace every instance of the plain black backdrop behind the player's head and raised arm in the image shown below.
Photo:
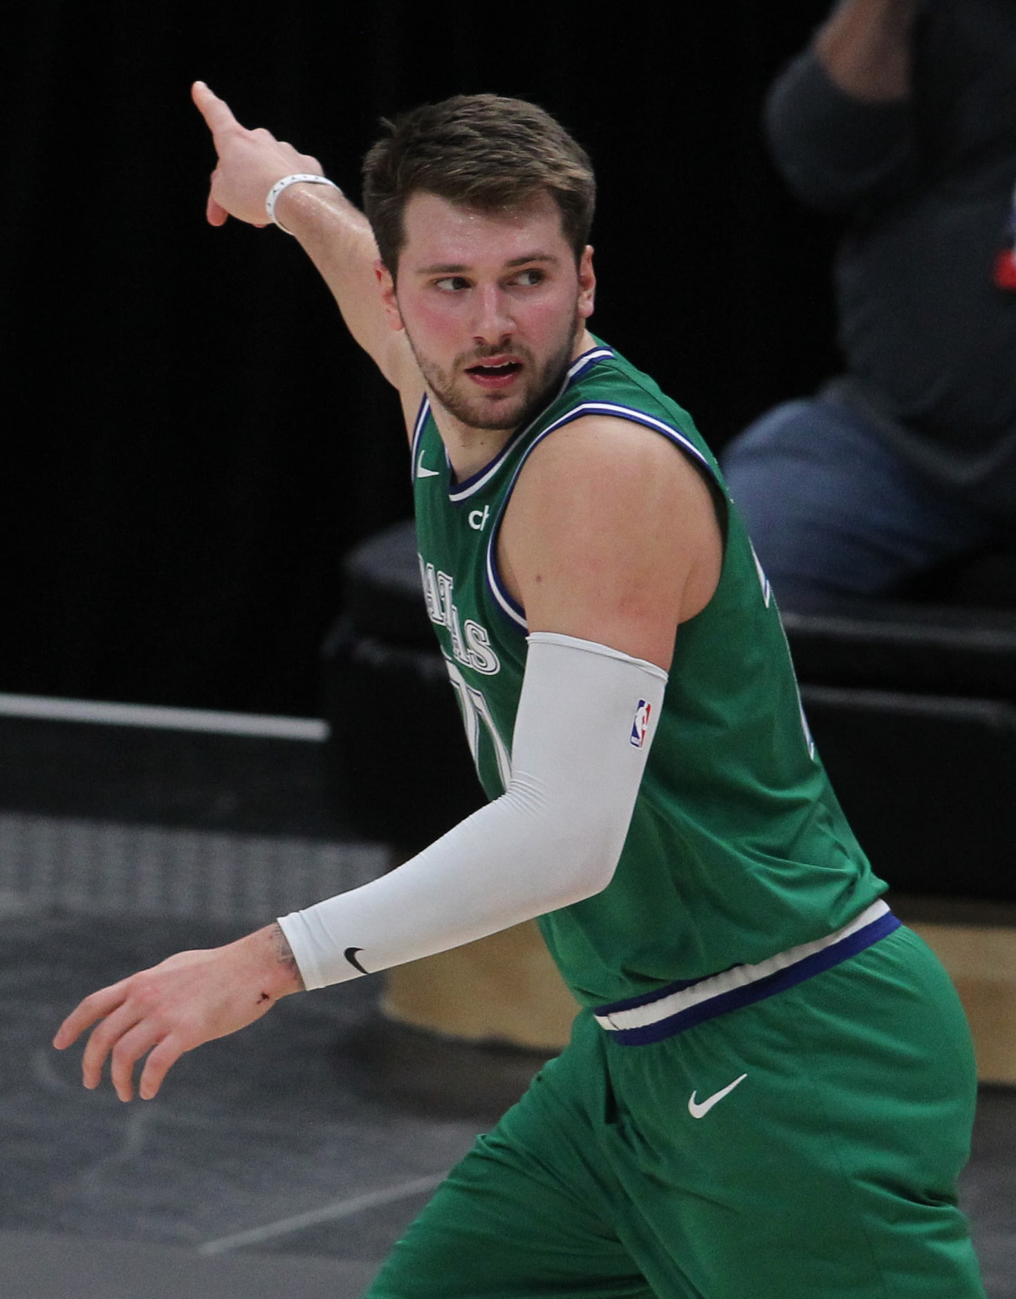
{"label": "plain black backdrop behind the player's head and raised arm", "polygon": [[342,556],[409,512],[394,394],[295,240],[204,222],[194,78],[351,197],[382,113],[543,104],[598,169],[594,327],[717,449],[835,368],[835,231],[759,126],[825,0],[10,8],[0,691],[314,714]]}

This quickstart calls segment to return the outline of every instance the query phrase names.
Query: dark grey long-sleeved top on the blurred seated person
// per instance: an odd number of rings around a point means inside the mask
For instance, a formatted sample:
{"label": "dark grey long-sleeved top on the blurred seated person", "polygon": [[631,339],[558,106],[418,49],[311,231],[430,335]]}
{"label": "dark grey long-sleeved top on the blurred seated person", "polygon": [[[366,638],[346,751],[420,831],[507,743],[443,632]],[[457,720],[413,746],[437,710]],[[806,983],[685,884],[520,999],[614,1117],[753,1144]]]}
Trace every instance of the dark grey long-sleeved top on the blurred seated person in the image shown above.
{"label": "dark grey long-sleeved top on the blurred seated person", "polygon": [[839,90],[811,49],[767,129],[795,194],[848,217],[847,374],[832,385],[908,459],[1016,522],[1016,288],[997,282],[1016,187],[1016,0],[926,0],[907,100]]}

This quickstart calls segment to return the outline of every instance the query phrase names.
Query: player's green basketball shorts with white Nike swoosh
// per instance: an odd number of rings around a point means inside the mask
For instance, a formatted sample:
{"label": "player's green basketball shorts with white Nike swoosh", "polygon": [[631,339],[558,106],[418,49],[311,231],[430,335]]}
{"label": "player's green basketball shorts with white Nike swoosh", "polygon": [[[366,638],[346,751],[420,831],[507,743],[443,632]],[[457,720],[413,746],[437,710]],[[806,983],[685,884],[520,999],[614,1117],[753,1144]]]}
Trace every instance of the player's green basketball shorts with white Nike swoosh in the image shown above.
{"label": "player's green basketball shorts with white Nike swoosh", "polygon": [[956,1208],[976,1090],[907,929],[651,1044],[582,1012],[370,1299],[984,1299]]}

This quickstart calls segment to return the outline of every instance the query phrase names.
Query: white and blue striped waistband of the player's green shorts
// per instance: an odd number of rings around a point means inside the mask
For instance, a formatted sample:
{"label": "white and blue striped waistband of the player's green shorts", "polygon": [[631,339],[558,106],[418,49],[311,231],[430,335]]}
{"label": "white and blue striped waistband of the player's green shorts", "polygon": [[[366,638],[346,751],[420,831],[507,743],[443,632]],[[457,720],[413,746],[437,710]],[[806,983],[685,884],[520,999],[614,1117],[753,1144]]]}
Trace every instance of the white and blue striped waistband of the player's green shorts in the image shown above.
{"label": "white and blue striped waistband of the player's green shorts", "polygon": [[891,934],[899,925],[889,905],[880,899],[825,938],[790,947],[757,965],[734,965],[722,974],[668,983],[654,992],[596,1007],[594,1017],[613,1042],[624,1046],[660,1042],[833,969]]}

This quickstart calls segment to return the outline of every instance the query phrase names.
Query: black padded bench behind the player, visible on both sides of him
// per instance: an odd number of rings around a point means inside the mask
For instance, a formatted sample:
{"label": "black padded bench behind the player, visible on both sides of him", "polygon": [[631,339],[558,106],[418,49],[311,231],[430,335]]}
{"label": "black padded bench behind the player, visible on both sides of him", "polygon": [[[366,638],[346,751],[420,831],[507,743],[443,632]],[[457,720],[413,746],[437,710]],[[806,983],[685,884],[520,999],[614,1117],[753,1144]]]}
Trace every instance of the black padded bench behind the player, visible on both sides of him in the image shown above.
{"label": "black padded bench behind the player, visible on both sides of him", "polygon": [[[991,562],[991,609],[838,600],[783,613],[822,761],[876,870],[902,892],[1016,899],[1016,609],[999,607],[1007,581],[1016,592],[1016,556]],[[346,581],[325,646],[335,781],[359,833],[418,851],[483,795],[412,522],[352,551]],[[950,582],[950,595],[964,590],[955,565]]]}

